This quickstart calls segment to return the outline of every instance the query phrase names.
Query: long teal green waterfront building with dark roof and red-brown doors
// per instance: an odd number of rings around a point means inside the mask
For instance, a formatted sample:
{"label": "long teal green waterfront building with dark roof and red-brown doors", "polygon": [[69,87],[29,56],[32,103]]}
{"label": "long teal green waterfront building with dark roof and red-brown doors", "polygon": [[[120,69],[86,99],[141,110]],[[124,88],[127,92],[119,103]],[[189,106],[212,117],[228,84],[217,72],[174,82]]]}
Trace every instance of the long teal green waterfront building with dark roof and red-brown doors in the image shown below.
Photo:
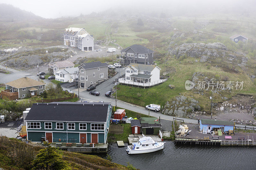
{"label": "long teal green waterfront building with dark roof and red-brown doors", "polygon": [[56,143],[107,143],[110,103],[34,103],[25,118],[27,138]]}

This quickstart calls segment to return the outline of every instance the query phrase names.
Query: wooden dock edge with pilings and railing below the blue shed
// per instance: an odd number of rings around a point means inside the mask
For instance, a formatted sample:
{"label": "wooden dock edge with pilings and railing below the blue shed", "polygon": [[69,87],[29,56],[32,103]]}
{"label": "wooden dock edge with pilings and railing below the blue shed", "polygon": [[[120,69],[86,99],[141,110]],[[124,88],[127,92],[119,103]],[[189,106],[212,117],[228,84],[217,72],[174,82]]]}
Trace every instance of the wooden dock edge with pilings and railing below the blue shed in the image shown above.
{"label": "wooden dock edge with pilings and railing below the blue shed", "polygon": [[254,140],[222,141],[209,139],[176,138],[177,145],[220,145],[220,146],[256,146]]}

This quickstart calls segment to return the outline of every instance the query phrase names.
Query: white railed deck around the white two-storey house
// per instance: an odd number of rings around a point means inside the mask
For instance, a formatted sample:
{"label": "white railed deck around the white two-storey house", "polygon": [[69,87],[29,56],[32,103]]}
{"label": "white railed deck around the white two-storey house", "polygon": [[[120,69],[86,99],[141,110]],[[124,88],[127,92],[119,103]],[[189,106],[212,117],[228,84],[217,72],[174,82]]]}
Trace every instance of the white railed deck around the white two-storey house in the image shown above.
{"label": "white railed deck around the white two-storey house", "polygon": [[148,82],[148,81],[142,81],[143,78],[137,78],[137,80],[125,80],[125,78],[118,79],[118,82],[121,84],[129,84],[129,85],[135,85],[135,86],[142,86],[142,87],[151,87],[155,86],[157,84],[163,83],[167,81],[167,79],[162,79],[154,82]]}

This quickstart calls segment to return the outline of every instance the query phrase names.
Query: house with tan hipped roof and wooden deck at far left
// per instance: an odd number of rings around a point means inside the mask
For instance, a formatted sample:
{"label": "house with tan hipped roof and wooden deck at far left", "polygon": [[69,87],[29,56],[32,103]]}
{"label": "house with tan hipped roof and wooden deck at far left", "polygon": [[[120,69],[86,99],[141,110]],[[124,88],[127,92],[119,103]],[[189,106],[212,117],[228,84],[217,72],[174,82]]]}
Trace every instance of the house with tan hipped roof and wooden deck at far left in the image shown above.
{"label": "house with tan hipped roof and wooden deck at far left", "polygon": [[45,83],[23,77],[8,83],[5,83],[6,89],[10,92],[18,92],[18,98],[24,98],[27,96],[40,95],[45,90]]}

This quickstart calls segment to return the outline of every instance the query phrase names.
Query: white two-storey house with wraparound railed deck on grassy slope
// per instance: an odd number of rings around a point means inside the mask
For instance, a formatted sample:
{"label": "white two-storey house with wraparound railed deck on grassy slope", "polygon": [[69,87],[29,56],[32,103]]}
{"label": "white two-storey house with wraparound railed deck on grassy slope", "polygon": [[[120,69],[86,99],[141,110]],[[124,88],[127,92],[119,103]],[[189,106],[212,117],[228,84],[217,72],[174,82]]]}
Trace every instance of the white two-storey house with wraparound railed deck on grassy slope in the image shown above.
{"label": "white two-storey house with wraparound railed deck on grassy slope", "polygon": [[160,80],[161,68],[155,65],[132,63],[123,69],[125,69],[125,78],[120,78],[120,83],[147,87],[167,80]]}

